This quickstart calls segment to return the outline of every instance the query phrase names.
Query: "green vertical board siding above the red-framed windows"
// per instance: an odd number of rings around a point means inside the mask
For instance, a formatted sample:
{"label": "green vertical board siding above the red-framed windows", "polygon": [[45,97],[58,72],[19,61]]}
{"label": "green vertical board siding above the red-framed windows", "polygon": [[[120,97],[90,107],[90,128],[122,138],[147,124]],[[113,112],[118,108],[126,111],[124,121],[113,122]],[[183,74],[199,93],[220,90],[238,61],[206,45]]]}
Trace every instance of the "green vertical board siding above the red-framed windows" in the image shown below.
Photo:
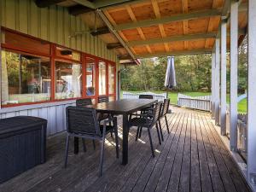
{"label": "green vertical board siding above the red-framed windows", "polygon": [[74,32],[88,31],[89,27],[79,16],[69,15],[66,8],[52,5],[39,9],[33,0],[0,1],[2,26],[118,63],[114,50],[108,50],[98,36],[85,32],[70,38]]}

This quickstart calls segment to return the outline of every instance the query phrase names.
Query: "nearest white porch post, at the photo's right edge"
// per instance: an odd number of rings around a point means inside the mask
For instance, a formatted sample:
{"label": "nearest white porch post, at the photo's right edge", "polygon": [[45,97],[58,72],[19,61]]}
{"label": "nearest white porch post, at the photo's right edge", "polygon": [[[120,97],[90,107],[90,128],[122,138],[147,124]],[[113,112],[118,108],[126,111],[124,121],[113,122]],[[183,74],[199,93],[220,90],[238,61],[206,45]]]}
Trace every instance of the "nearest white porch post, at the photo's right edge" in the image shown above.
{"label": "nearest white porch post, at the photo's right edge", "polygon": [[256,184],[256,1],[248,1],[247,180]]}

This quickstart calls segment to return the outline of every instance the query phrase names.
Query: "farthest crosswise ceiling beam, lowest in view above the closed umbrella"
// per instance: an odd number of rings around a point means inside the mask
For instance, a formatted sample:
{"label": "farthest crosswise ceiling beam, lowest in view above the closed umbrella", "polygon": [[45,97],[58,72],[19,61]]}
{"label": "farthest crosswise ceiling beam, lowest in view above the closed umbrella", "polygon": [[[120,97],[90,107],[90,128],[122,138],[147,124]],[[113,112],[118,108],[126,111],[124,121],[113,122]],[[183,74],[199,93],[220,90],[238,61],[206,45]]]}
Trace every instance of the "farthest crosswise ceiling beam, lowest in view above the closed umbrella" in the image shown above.
{"label": "farthest crosswise ceiling beam, lowest in view above the closed umbrella", "polygon": [[212,49],[187,49],[183,51],[171,51],[171,52],[159,52],[154,54],[142,54],[135,55],[138,59],[143,58],[152,58],[159,56],[177,56],[177,55],[198,55],[198,54],[210,54],[212,53]]}

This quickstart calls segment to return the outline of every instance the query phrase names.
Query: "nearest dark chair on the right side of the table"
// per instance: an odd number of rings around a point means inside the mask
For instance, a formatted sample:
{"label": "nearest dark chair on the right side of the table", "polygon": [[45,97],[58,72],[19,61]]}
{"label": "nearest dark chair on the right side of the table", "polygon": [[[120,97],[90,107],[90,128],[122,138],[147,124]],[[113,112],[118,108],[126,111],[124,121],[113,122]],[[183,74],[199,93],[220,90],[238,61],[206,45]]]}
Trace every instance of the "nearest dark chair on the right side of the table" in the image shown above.
{"label": "nearest dark chair on the right side of the table", "polygon": [[149,115],[147,113],[133,114],[133,115],[136,115],[136,116],[139,116],[139,117],[130,119],[129,120],[129,127],[137,126],[136,141],[137,141],[137,138],[138,138],[138,132],[139,132],[138,130],[143,129],[143,128],[148,129],[148,137],[149,137],[150,147],[151,147],[152,155],[154,157],[154,146],[153,146],[150,131],[154,126],[156,127],[159,143],[161,144],[160,130],[159,130],[159,126],[157,124],[158,119],[160,117],[160,104],[159,103],[154,104],[153,112],[150,113]]}

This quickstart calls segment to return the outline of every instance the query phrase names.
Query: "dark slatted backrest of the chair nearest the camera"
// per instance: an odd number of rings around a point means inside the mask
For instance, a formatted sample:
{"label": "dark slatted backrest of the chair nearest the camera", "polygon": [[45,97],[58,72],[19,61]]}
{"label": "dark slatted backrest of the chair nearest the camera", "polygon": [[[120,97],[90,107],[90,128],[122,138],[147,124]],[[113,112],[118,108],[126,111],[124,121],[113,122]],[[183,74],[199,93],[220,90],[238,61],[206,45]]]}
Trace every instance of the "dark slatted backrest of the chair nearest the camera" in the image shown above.
{"label": "dark slatted backrest of the chair nearest the camera", "polygon": [[90,137],[102,137],[95,108],[66,108],[67,132]]}

